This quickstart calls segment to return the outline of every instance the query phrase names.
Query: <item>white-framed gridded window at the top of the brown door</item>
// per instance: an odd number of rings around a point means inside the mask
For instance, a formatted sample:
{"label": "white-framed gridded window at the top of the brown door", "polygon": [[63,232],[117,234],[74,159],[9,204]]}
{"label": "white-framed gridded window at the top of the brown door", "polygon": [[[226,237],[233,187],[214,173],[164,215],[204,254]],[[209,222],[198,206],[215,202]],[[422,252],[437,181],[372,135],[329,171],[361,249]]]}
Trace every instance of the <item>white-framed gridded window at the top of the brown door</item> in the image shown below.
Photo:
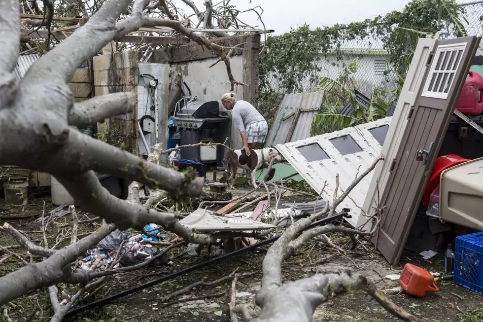
{"label": "white-framed gridded window at the top of the brown door", "polygon": [[421,96],[448,98],[465,48],[466,42],[438,46]]}

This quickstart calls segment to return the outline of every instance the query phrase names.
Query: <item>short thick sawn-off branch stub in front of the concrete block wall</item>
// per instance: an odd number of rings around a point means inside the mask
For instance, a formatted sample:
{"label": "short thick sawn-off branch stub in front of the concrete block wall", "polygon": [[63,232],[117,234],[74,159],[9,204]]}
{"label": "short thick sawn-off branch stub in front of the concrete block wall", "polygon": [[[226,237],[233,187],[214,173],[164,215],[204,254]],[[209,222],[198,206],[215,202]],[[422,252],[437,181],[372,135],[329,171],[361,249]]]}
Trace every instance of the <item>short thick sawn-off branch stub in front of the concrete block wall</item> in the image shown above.
{"label": "short thick sawn-off branch stub in front of the concrete block wall", "polygon": [[82,129],[111,116],[131,113],[137,103],[134,93],[96,96],[74,104],[69,112],[69,124]]}

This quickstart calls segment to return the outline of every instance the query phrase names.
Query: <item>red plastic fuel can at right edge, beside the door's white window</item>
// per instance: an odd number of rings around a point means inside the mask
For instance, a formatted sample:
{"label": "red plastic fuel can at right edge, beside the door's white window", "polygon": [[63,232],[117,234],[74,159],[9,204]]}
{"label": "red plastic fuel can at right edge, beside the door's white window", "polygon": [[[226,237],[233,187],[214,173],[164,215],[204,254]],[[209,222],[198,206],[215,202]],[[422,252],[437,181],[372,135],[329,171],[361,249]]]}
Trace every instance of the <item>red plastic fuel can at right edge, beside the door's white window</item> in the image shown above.
{"label": "red plastic fuel can at right edge, beside the door's white window", "polygon": [[483,77],[473,71],[468,74],[470,77],[465,80],[455,108],[466,115],[480,115],[483,111],[483,100],[482,95],[478,97],[478,91],[483,91]]}

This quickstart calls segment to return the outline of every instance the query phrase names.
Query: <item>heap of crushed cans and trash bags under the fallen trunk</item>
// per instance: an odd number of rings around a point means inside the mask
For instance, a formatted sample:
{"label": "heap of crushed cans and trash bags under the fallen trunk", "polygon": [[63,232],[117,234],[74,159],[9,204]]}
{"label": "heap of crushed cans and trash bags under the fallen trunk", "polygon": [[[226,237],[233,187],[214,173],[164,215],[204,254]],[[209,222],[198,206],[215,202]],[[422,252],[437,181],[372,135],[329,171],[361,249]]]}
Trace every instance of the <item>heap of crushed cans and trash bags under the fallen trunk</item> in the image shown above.
{"label": "heap of crushed cans and trash bags under the fallen trunk", "polygon": [[[117,259],[119,259],[118,262],[112,268],[140,264],[147,259],[158,255],[162,251],[153,247],[153,245],[146,243],[146,241],[156,242],[161,240],[161,233],[156,228],[158,228],[158,226],[155,224],[146,225],[144,227],[145,232],[148,233],[149,236],[145,234],[131,235],[127,230],[121,231],[116,229],[100,241],[95,248],[87,250],[86,257],[79,260],[76,266],[77,268],[86,271],[104,271]],[[122,248],[119,252],[120,258],[116,258],[116,253],[121,244]],[[153,260],[150,264],[152,266],[167,265],[168,258],[166,254],[163,254],[159,258]]]}

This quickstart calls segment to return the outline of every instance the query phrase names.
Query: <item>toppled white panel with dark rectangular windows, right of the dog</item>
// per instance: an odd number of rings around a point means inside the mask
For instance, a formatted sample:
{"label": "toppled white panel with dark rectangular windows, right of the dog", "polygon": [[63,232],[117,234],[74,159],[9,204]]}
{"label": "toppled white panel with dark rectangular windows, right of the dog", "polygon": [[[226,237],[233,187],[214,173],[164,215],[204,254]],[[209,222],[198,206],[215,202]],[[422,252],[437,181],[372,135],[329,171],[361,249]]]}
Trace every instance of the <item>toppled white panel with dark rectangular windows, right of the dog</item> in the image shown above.
{"label": "toppled white panel with dark rectangular windows, right of the dog", "polygon": [[[316,192],[320,193],[325,185],[321,197],[331,203],[334,196],[337,175],[339,175],[338,195],[340,196],[354,179],[369,168],[380,155],[382,146],[369,130],[382,126],[384,126],[384,129],[387,129],[391,118],[385,117],[374,122],[345,128],[340,131],[305,140],[278,144],[276,145],[276,149]],[[355,152],[342,155],[330,140],[347,135],[357,143],[359,148],[354,145],[355,149],[353,151]],[[348,140],[348,138],[345,140]],[[298,149],[313,143],[318,144],[322,148],[327,158],[320,160],[320,158],[315,156],[315,152],[304,153],[304,156]],[[306,157],[313,157],[316,160],[308,161]],[[347,221],[354,227],[357,226],[359,217],[361,217],[361,208],[366,199],[371,177],[372,172],[362,179],[336,208],[338,212],[342,211],[343,208],[350,209],[352,218],[348,218]]]}

